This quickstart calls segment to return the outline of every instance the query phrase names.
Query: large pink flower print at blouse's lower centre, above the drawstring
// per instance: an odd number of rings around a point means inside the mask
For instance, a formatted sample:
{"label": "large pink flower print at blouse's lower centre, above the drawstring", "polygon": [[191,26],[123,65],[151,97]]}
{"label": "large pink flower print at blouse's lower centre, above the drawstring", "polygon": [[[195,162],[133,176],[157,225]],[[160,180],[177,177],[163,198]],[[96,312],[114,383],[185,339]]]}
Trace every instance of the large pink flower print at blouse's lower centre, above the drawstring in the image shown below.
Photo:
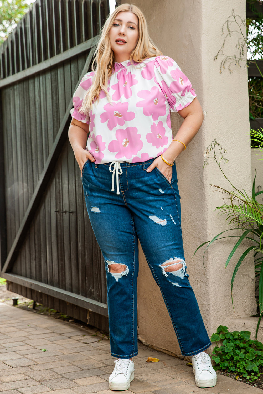
{"label": "large pink flower print at blouse's lower centre, above the drawstring", "polygon": [[117,152],[116,159],[126,158],[130,159],[134,154],[142,149],[142,140],[140,134],[137,134],[136,127],[127,127],[124,130],[119,129],[116,131],[116,139],[111,141],[108,145],[110,152]]}

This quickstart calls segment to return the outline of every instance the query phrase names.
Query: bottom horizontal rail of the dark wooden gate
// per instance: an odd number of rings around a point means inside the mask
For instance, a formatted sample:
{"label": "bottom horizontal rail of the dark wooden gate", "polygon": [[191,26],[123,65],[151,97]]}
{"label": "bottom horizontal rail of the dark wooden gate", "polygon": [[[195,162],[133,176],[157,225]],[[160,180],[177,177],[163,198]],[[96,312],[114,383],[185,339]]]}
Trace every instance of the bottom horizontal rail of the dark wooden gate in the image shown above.
{"label": "bottom horizontal rail of the dark wooden gate", "polygon": [[62,299],[65,302],[73,303],[78,305],[79,307],[93,310],[103,316],[108,316],[107,305],[101,302],[95,301],[93,299],[82,297],[79,294],[74,294],[68,292],[67,290],[62,290],[54,286],[50,286],[48,284],[43,284],[38,281],[34,281],[33,279],[24,278],[21,275],[15,275],[11,273],[3,273],[3,278],[8,281],[12,281],[21,286],[29,287],[33,290],[37,290],[38,292],[48,294],[52,297],[57,297]]}

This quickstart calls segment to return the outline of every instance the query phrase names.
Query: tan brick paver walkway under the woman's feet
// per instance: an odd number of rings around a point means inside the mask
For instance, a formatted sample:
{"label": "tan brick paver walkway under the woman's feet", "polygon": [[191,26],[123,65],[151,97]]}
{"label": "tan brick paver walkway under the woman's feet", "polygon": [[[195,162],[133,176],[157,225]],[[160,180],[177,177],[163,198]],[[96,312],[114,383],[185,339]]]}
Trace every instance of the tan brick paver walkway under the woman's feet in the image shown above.
{"label": "tan brick paver walkway under the woman's feet", "polygon": [[[95,330],[0,303],[1,394],[113,394],[110,344]],[[41,349],[46,349],[43,351]],[[146,363],[148,357],[159,362]],[[139,344],[135,376],[125,394],[263,394],[263,390],[218,375],[212,388],[198,388],[186,362]]]}

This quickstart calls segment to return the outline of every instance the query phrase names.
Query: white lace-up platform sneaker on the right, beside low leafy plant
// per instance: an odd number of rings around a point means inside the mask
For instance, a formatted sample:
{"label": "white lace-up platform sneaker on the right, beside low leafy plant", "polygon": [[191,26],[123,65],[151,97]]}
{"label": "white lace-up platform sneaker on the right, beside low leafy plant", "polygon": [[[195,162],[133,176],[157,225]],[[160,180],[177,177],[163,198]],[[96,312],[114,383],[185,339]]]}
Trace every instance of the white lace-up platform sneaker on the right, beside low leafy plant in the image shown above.
{"label": "white lace-up platform sneaker on the right, beside low leafy plant", "polygon": [[197,387],[214,387],[216,385],[216,372],[207,353],[202,351],[192,356],[192,364]]}

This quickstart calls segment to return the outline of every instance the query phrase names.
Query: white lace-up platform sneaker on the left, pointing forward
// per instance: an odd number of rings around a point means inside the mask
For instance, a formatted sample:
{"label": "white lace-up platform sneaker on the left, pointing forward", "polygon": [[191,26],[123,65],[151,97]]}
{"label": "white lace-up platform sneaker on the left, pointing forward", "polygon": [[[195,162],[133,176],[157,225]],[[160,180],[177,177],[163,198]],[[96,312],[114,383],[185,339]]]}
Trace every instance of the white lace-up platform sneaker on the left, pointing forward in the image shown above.
{"label": "white lace-up platform sneaker on the left, pointing forward", "polygon": [[134,379],[134,362],[129,359],[115,360],[115,367],[109,377],[110,390],[128,390]]}

